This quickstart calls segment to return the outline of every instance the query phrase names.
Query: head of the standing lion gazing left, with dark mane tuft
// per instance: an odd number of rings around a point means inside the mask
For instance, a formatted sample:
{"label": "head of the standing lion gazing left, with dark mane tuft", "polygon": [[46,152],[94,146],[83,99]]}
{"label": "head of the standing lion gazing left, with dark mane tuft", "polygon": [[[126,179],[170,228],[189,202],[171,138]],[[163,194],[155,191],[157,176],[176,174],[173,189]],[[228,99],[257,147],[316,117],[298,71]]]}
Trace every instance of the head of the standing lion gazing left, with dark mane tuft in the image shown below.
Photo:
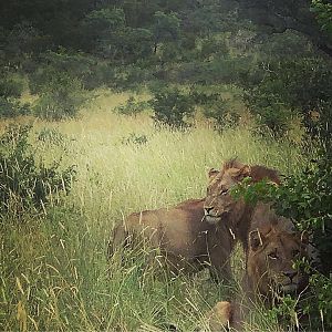
{"label": "head of the standing lion gazing left, with dark mane tuft", "polygon": [[259,165],[245,165],[237,159],[226,162],[220,172],[216,169],[209,172],[209,184],[204,205],[208,222],[216,224],[235,210],[237,201],[229,194],[229,189],[245,177],[250,177],[255,183],[267,178],[274,184],[280,184],[278,173],[273,169]]}

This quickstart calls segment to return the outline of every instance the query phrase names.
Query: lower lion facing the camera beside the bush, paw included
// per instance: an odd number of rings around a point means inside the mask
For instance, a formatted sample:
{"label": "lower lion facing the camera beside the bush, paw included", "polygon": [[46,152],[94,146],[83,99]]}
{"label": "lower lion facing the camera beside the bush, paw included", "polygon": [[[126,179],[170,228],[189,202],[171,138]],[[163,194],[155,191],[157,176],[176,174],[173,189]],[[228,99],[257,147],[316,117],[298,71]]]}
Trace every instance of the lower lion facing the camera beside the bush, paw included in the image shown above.
{"label": "lower lion facing the camera beside the bush, paw included", "polygon": [[212,331],[231,326],[242,330],[253,303],[277,305],[278,294],[299,294],[308,287],[308,276],[295,261],[308,258],[307,235],[293,230],[292,222],[276,215],[270,205],[258,204],[248,232],[246,273],[242,280],[245,299],[220,301],[207,320]]}

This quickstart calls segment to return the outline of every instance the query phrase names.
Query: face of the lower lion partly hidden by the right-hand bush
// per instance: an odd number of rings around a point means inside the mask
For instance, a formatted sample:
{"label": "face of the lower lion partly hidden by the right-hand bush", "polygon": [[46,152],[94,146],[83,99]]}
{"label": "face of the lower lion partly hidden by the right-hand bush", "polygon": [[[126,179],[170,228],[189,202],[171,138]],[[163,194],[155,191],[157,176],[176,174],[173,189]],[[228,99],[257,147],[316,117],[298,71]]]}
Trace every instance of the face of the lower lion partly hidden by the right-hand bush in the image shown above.
{"label": "face of the lower lion partly hidden by the right-hand bush", "polygon": [[295,267],[307,257],[305,237],[267,222],[251,230],[248,241],[247,276],[255,291],[270,298],[273,290],[294,293],[305,287],[307,277]]}

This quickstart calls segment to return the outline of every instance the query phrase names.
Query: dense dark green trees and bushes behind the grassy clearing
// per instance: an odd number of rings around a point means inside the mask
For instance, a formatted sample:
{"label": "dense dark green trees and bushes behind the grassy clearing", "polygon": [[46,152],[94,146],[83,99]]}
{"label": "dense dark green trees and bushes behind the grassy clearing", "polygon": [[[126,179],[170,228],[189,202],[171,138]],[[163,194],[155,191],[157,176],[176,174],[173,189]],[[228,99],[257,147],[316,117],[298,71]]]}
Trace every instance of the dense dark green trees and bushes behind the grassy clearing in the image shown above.
{"label": "dense dark green trees and bushes behind the grassy clearing", "polygon": [[[147,84],[157,98],[162,93],[172,100],[160,85],[186,84],[196,92],[217,84],[237,86],[237,97],[276,135],[287,132],[293,117],[311,134],[330,135],[331,7],[325,2],[15,1],[2,4],[0,19],[2,116],[29,111],[50,120],[75,116],[86,90],[102,85]],[[27,76],[40,96],[33,110],[18,104],[22,81],[14,73]],[[212,100],[204,103],[205,114],[224,125],[234,107]],[[177,125],[195,106],[180,103]],[[168,117],[155,110],[157,121],[169,123]]]}

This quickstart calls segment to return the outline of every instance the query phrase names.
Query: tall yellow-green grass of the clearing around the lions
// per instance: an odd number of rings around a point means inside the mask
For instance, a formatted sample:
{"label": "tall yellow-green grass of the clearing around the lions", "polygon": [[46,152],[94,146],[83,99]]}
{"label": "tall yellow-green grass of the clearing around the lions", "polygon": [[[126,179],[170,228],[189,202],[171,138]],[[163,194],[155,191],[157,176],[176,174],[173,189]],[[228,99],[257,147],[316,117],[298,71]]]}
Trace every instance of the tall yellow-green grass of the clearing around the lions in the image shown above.
{"label": "tall yellow-green grass of the clearing around the lions", "polygon": [[[112,112],[127,97],[103,94],[79,120],[19,120],[33,121],[34,136],[49,133],[44,141],[31,137],[37,158],[61,156],[63,167],[76,165],[77,177],[62,204],[51,204],[42,216],[27,215],[19,224],[2,217],[1,331],[204,326],[204,313],[224,299],[226,288],[205,272],[156,277],[164,274],[162,268],[144,268],[144,257],[135,253],[128,253],[125,267],[118,261],[108,266],[105,248],[112,228],[132,211],[203,197],[208,169],[227,158],[237,156],[283,174],[298,172],[305,162],[295,145],[257,138],[248,126],[218,134],[198,121],[188,132],[169,132],[155,128],[147,114],[126,117]],[[234,264],[242,270],[240,258]],[[248,329],[277,326],[270,317],[258,314]]]}

